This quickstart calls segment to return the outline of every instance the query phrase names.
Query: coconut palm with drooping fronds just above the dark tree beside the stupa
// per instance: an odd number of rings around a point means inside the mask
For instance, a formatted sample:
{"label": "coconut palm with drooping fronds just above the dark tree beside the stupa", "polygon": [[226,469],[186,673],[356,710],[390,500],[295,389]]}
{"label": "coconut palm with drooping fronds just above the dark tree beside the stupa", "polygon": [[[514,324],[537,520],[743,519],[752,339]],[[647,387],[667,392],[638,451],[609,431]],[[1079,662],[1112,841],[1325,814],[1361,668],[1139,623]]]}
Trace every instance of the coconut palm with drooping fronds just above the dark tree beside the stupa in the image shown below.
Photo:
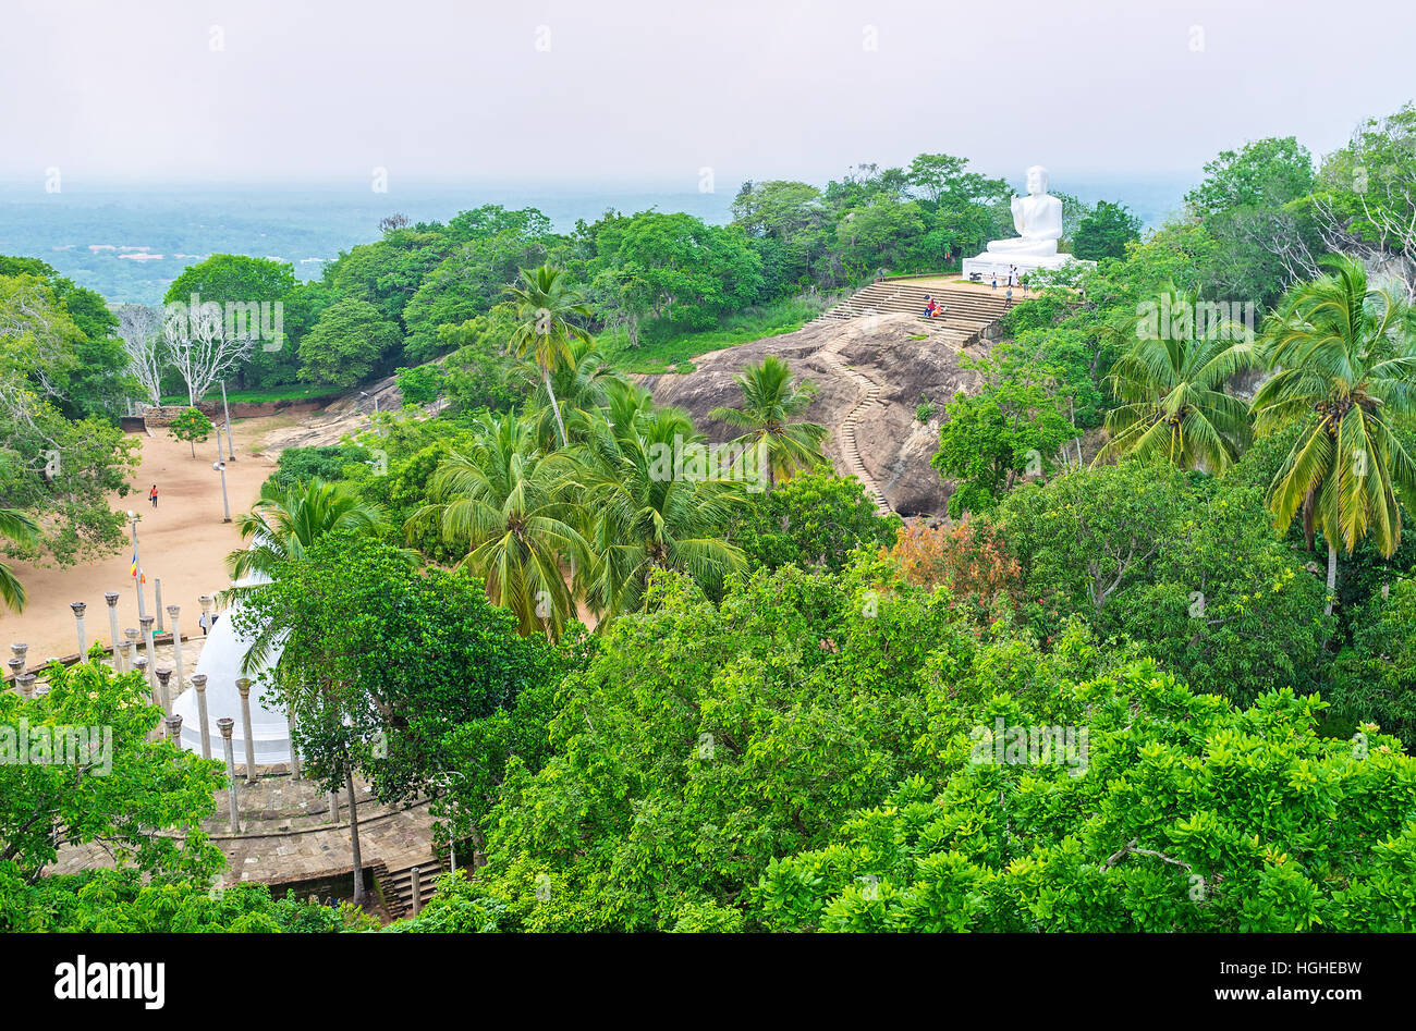
{"label": "coconut palm with drooping fronds just above the dark tree beside the stupa", "polygon": [[534,426],[504,415],[481,425],[470,450],[453,452],[433,473],[409,527],[440,524],[447,541],[467,541],[457,562],[481,576],[487,598],[515,615],[523,634],[556,637],[575,615],[561,562],[588,559],[571,503],[573,459],[542,453]]}

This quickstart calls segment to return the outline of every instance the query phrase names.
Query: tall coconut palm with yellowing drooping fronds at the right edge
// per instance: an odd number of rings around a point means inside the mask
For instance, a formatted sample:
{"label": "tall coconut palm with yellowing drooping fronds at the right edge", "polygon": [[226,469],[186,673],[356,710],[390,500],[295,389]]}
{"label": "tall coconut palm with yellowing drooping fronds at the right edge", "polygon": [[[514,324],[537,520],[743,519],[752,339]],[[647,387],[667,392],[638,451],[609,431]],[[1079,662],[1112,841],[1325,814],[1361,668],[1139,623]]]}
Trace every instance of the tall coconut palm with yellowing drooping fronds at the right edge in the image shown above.
{"label": "tall coconut palm with yellowing drooping fronds at the right edge", "polygon": [[1264,327],[1276,371],[1253,409],[1260,435],[1303,426],[1269,487],[1269,510],[1279,528],[1301,510],[1310,548],[1323,531],[1331,613],[1338,545],[1351,554],[1372,534],[1391,555],[1402,534],[1398,501],[1416,506],[1416,462],[1393,432],[1416,422],[1416,320],[1368,282],[1361,262],[1324,265],[1331,272],[1293,286]]}

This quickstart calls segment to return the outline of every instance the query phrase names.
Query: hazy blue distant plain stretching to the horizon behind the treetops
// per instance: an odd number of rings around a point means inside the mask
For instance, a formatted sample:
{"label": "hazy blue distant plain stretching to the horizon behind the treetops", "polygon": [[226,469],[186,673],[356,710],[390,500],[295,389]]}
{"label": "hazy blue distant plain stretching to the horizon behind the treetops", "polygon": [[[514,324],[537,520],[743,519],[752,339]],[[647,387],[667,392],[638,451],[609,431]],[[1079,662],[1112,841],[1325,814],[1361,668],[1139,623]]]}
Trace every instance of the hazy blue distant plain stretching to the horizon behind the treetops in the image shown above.
{"label": "hazy blue distant plain stretching to the horizon behind the treetops", "polygon": [[[1178,207],[1187,183],[1068,181],[1083,201],[1120,200],[1150,227]],[[687,211],[729,220],[736,184],[715,193],[528,186],[419,186],[374,193],[368,184],[327,187],[0,184],[0,254],[40,258],[112,302],[160,303],[184,268],[211,254],[276,258],[302,279],[317,279],[340,251],[378,238],[378,221],[446,221],[481,204],[535,207],[559,231],[607,208]]]}

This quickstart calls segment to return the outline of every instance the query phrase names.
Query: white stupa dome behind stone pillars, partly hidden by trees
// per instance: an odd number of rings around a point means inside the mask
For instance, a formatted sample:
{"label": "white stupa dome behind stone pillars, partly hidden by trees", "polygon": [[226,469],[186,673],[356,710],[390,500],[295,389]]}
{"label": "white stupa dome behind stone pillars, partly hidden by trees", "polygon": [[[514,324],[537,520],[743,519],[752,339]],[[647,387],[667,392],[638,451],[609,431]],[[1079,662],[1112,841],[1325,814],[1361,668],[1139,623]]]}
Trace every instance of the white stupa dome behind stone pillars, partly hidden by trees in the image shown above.
{"label": "white stupa dome behind stone pillars, partly hidden by trees", "polygon": [[[236,581],[234,586],[244,588],[255,583],[269,583],[266,576],[248,576]],[[231,717],[235,728],[231,732],[231,742],[236,758],[236,765],[244,766],[246,761],[246,736],[241,724],[241,693],[236,691],[236,677],[251,677],[251,736],[256,744],[256,765],[272,765],[290,762],[290,725],[285,712],[268,708],[262,704],[265,690],[261,685],[261,674],[280,660],[279,644],[272,649],[266,663],[241,673],[241,663],[251,647],[251,639],[236,633],[232,616],[239,612],[239,605],[232,605],[217,625],[207,633],[207,643],[201,649],[201,659],[197,660],[195,673],[207,674],[207,727],[211,735],[211,758],[221,759],[224,745],[217,721]],[[173,715],[181,717],[181,746],[190,752],[201,753],[201,718],[197,715],[197,691],[188,687],[173,702]]]}

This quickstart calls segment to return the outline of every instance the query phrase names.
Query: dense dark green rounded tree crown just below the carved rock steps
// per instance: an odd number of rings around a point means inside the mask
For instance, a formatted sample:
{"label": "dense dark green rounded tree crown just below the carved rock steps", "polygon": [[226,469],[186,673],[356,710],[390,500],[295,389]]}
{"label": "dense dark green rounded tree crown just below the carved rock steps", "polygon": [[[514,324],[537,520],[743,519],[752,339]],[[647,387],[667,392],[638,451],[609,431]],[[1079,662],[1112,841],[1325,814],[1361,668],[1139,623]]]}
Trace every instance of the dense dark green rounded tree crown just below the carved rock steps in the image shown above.
{"label": "dense dark green rounded tree crown just below the carved rock steps", "polygon": [[732,541],[749,569],[797,565],[841,572],[858,548],[889,547],[898,516],[881,516],[854,477],[827,469],[793,476],[776,489],[753,494],[732,524]]}

